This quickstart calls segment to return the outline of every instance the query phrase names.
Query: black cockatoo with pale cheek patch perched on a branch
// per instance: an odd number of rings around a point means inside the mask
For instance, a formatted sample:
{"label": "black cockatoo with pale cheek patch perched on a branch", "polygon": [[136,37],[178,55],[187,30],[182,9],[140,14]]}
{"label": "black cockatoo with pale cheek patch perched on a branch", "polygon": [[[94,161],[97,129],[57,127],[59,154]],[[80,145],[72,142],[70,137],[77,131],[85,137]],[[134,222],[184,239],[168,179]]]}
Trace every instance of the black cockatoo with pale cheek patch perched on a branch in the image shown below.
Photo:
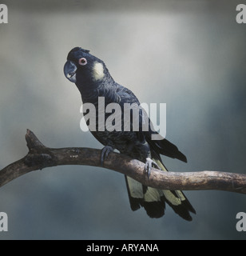
{"label": "black cockatoo with pale cheek patch perched on a branch", "polygon": [[[76,84],[77,89],[81,92],[82,102],[92,103],[97,110],[97,126],[96,129],[90,131],[105,146],[101,151],[102,163],[109,152],[114,149],[119,150],[121,154],[146,162],[145,168],[148,174],[149,167],[152,164],[158,166],[161,170],[167,171],[160,154],[187,162],[185,155],[177,149],[177,146],[165,138],[152,140],[151,135],[157,134],[153,129],[147,131],[133,130],[133,120],[128,120],[131,122],[131,128],[125,131],[123,129],[124,114],[121,114],[122,130],[98,129],[100,126],[98,117],[101,111],[98,110],[99,97],[105,98],[105,106],[109,103],[117,103],[121,108],[124,107],[124,103],[135,103],[139,106],[140,102],[131,90],[113,80],[105,63],[89,54],[89,50],[84,50],[81,47],[70,50],[67,62],[65,62],[64,74],[70,82]],[[122,111],[122,113],[124,112]],[[139,111],[139,113],[140,115],[143,114],[142,111]],[[109,113],[105,113],[105,119],[108,117]],[[139,118],[139,120],[142,120],[142,118]],[[151,122],[149,121],[149,123]],[[165,214],[165,202],[167,202],[177,214],[188,221],[192,220],[189,212],[196,213],[185,194],[180,190],[157,190],[143,186],[140,182],[127,176],[125,176],[125,181],[132,210],[137,210],[142,206],[149,217],[161,218]]]}

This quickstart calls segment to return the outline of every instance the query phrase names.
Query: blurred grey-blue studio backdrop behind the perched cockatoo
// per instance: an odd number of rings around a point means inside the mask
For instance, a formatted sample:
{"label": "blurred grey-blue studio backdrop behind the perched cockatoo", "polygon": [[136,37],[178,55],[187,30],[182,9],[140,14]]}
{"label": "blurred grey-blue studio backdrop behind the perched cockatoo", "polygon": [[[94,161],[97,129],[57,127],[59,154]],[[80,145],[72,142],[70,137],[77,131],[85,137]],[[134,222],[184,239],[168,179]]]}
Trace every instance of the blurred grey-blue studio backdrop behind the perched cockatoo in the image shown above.
{"label": "blurred grey-blue studio backdrop behind the perched cockatoo", "polygon": [[[74,46],[101,58],[140,102],[167,104],[167,136],[188,163],[173,171],[245,173],[246,24],[242,1],[5,1],[0,24],[0,169],[27,154],[30,129],[50,147],[102,148],[80,130],[81,96],[63,66]],[[185,191],[185,222],[133,212],[122,174],[91,166],[34,171],[0,188],[0,239],[245,239],[246,197]]]}

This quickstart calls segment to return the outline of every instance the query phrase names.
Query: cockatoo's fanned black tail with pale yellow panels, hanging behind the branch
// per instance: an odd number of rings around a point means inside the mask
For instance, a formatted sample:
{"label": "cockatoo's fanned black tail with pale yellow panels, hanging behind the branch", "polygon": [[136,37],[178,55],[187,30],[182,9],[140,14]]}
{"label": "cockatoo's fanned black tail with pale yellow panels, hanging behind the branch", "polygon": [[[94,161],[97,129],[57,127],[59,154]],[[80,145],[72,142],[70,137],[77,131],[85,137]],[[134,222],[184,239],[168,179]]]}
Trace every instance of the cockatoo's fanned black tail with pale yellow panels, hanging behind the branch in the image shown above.
{"label": "cockatoo's fanned black tail with pale yellow panels, hanging behind the branch", "polygon": [[[168,171],[159,159],[153,158],[161,170]],[[125,176],[125,182],[129,194],[129,202],[132,210],[141,206],[145,208],[150,218],[161,218],[165,214],[165,202],[169,204],[181,218],[192,221],[189,212],[196,214],[185,194],[181,190],[157,190],[143,186],[133,178]]]}

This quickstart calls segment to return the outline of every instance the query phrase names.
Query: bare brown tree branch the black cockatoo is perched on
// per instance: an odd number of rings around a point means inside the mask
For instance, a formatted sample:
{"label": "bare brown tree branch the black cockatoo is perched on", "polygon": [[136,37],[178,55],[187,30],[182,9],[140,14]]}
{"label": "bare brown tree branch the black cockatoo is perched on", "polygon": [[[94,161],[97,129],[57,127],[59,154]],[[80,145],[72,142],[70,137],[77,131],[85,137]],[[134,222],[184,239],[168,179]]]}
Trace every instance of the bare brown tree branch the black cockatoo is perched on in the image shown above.
{"label": "bare brown tree branch the black cockatoo is perched on", "polygon": [[[30,130],[26,132],[26,142],[28,154],[0,170],[0,186],[32,170],[42,170],[50,166],[101,166],[101,150],[81,147],[49,148]],[[104,167],[128,175],[146,186],[162,190],[226,190],[246,194],[246,174],[208,170],[174,173],[152,168],[148,178],[143,162],[114,152],[105,159]]]}

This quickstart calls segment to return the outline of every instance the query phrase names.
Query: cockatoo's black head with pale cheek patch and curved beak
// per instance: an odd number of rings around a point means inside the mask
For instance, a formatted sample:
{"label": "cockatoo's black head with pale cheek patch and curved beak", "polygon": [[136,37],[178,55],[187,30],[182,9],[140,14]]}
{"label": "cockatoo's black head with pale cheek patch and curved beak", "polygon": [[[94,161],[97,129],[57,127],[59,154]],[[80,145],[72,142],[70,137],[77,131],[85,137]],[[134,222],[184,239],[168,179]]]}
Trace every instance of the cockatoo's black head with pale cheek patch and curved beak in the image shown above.
{"label": "cockatoo's black head with pale cheek patch and curved beak", "polygon": [[101,59],[89,54],[89,50],[75,47],[69,51],[64,65],[65,78],[70,82],[86,84],[100,82],[107,69]]}

